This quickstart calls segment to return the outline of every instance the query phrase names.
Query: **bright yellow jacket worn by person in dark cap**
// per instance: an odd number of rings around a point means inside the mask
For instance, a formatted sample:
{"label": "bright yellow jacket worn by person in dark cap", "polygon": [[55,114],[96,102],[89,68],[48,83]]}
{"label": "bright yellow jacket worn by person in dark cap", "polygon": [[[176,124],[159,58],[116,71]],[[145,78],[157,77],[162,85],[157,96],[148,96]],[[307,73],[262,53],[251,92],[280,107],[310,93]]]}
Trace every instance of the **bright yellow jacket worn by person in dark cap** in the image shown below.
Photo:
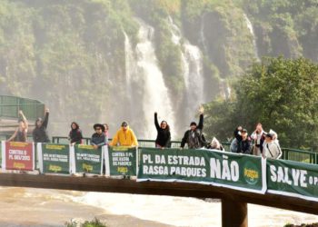
{"label": "bright yellow jacket worn by person in dark cap", "polygon": [[[118,144],[119,143],[119,144]],[[123,128],[120,128],[117,133],[115,133],[113,140],[109,143],[111,146],[138,146],[137,138],[134,135],[133,130],[127,127],[127,130],[124,131]]]}

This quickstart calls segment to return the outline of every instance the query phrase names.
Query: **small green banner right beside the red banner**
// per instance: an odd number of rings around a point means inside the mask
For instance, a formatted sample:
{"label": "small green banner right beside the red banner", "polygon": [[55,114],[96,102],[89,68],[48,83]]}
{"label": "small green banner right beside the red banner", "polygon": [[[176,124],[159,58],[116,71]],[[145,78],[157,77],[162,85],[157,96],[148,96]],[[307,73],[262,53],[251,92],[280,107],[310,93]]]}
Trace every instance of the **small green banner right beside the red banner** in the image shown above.
{"label": "small green banner right beside the red banner", "polygon": [[[68,144],[41,143],[41,173],[70,173],[70,151]],[[39,147],[38,147],[39,149]]]}

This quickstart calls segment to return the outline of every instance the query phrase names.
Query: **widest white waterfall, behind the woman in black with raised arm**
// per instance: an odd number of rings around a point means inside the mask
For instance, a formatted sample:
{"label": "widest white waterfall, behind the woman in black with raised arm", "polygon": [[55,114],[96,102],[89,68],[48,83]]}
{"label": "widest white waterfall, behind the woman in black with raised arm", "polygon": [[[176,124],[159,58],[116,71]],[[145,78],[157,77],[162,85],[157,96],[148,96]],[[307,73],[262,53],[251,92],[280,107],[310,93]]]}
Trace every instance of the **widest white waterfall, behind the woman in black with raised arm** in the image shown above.
{"label": "widest white waterfall, behind the woman in black with raised arm", "polygon": [[[154,112],[158,112],[166,120],[172,129],[174,136],[174,112],[168,89],[164,84],[164,75],[160,71],[158,61],[154,53],[154,28],[137,20],[140,25],[138,32],[139,43],[136,45],[137,74],[143,76],[139,81],[142,84],[144,99],[143,110],[145,115],[144,138],[155,138]],[[134,102],[134,101],[133,101]],[[138,100],[135,100],[138,102]]]}

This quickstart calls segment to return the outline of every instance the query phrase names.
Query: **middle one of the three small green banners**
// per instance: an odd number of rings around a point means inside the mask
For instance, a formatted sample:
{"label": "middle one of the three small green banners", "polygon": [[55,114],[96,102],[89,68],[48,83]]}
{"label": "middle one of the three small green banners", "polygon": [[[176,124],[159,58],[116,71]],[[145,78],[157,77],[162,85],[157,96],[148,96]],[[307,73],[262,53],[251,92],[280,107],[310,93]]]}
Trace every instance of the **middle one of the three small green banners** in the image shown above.
{"label": "middle one of the three small green banners", "polygon": [[92,145],[75,145],[75,173],[102,174],[102,148]]}

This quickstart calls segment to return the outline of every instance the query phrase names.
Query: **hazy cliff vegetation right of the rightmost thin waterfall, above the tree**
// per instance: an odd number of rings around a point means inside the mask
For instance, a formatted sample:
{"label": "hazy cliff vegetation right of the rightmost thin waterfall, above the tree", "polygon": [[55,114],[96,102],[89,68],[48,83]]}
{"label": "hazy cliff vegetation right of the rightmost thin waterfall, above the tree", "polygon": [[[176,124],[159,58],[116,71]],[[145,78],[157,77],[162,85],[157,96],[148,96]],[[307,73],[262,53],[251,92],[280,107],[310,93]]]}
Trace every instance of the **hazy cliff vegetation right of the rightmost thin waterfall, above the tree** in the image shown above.
{"label": "hazy cliff vegetation right of the rightmost thin waterfall, above the tree", "polygon": [[260,54],[318,60],[318,1],[240,0],[253,19]]}

